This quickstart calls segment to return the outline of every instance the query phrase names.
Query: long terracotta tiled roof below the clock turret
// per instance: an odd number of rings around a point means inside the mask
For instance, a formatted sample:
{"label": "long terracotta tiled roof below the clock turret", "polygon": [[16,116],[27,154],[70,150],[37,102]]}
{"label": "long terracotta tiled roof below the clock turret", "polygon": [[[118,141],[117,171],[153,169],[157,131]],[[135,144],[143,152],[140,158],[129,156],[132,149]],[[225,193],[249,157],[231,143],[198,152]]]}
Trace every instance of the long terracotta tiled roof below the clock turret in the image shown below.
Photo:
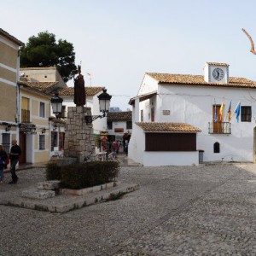
{"label": "long terracotta tiled roof below the clock turret", "polygon": [[221,87],[241,87],[241,88],[256,88],[256,82],[230,77],[228,84],[207,83],[201,75],[183,75],[170,73],[146,73],[153,79],[159,81],[160,84],[191,84],[204,86],[221,86]]}

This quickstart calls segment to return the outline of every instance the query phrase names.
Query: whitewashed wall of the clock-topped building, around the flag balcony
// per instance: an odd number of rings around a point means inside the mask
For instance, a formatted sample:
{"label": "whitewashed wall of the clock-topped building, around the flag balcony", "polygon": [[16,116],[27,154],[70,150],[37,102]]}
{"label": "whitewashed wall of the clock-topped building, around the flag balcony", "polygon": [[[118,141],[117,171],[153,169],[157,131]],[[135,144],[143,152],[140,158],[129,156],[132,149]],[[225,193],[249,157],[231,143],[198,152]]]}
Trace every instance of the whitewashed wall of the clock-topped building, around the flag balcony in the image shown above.
{"label": "whitewashed wall of the clock-topped building, around the flag balcony", "polygon": [[[146,76],[145,76],[146,78]],[[147,80],[150,80],[150,78]],[[148,86],[143,81],[143,93],[148,93],[154,79]],[[197,134],[197,149],[203,149],[205,161],[253,161],[253,129],[256,126],[256,90],[226,87],[203,87],[187,85],[159,85],[157,104],[155,108],[155,121],[182,122],[194,125],[201,129]],[[214,102],[220,105],[224,102],[224,116],[228,112],[232,100],[232,113],[236,105],[241,101],[241,106],[252,106],[252,122],[237,123],[236,115],[231,119],[231,134],[209,134],[208,122],[212,122],[212,105]],[[149,103],[148,103],[149,102]],[[147,115],[150,100],[141,102],[138,111],[143,109]],[[163,110],[170,111],[164,115]],[[144,121],[150,121],[144,119]],[[134,135],[134,131],[133,131]],[[213,153],[213,143],[220,143],[220,153]]]}

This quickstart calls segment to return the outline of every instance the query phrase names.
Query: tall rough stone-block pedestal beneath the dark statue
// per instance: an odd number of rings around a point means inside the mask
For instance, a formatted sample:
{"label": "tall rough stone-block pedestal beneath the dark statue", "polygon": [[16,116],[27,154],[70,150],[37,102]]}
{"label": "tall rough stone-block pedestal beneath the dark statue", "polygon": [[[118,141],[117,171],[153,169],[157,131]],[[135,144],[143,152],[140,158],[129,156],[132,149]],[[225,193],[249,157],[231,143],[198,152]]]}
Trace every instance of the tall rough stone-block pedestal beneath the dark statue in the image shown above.
{"label": "tall rough stone-block pedestal beneath the dark statue", "polygon": [[68,107],[64,143],[64,157],[77,158],[79,163],[95,160],[95,138],[92,124],[86,125],[84,114],[90,108]]}

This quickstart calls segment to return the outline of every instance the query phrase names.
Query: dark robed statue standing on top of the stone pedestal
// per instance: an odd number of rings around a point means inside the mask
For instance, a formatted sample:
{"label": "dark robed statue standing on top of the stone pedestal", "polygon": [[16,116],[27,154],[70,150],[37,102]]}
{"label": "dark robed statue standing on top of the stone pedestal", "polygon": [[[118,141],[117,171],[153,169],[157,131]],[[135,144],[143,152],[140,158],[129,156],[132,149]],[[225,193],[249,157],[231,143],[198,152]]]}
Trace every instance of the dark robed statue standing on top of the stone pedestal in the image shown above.
{"label": "dark robed statue standing on top of the stone pedestal", "polygon": [[78,67],[79,75],[74,79],[73,102],[77,107],[85,105],[84,76],[81,74],[81,66]]}

